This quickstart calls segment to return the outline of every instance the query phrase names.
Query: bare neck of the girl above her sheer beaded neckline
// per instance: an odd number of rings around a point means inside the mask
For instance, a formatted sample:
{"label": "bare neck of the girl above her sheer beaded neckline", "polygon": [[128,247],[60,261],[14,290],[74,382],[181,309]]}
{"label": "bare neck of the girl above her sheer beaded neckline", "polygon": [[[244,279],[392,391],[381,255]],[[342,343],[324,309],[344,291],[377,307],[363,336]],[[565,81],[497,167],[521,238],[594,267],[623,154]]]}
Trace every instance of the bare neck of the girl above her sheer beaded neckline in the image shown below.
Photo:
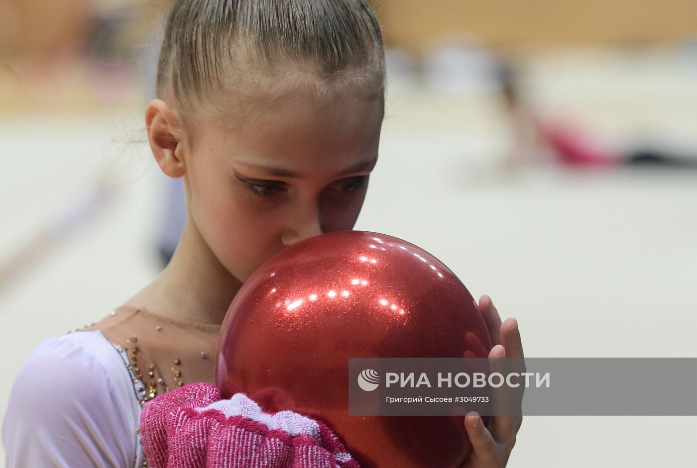
{"label": "bare neck of the girl above her sheer beaded neckline", "polygon": [[169,265],[126,305],[177,320],[220,325],[241,286],[188,217]]}

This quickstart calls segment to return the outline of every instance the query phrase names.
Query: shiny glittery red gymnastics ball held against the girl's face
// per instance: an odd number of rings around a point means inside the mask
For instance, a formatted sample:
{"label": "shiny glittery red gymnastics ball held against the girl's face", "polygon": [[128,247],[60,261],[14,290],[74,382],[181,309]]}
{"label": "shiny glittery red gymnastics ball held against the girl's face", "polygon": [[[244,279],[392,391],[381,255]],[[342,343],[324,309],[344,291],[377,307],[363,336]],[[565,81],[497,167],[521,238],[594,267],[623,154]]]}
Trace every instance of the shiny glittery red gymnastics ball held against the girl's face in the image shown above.
{"label": "shiny glittery red gymnastics ball held against the girl's face", "polygon": [[473,297],[441,261],[396,237],[337,231],[250,276],[222,324],[215,382],[328,423],[363,467],[457,467],[472,449],[464,416],[349,416],[348,358],[489,350]]}

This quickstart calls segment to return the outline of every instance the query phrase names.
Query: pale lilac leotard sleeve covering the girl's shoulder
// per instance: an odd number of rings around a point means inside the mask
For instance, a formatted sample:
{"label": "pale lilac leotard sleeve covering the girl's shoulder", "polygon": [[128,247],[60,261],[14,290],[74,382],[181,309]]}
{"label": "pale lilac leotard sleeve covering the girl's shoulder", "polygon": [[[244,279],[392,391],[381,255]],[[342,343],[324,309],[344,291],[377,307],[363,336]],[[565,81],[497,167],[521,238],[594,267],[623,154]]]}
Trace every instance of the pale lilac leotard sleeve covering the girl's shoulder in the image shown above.
{"label": "pale lilac leotard sleeve covering the girl's shoulder", "polygon": [[75,467],[83,466],[81,457],[132,465],[140,407],[125,364],[99,331],[40,343],[10,393],[3,423],[8,466],[53,466],[42,457]]}

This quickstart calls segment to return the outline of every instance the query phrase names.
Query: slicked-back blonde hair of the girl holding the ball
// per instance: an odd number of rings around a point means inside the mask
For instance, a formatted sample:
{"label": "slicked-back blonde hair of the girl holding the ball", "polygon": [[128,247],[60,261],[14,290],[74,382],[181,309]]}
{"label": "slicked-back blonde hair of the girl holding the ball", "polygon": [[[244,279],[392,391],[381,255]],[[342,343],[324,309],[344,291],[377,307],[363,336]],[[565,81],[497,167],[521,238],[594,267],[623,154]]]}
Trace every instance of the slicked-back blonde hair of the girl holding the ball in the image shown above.
{"label": "slicked-back blonde hair of the girl holding the ball", "polygon": [[384,79],[380,26],[366,0],[176,0],[156,90],[185,111],[222,111],[242,84],[254,85],[247,95],[301,82],[324,94],[381,95]]}

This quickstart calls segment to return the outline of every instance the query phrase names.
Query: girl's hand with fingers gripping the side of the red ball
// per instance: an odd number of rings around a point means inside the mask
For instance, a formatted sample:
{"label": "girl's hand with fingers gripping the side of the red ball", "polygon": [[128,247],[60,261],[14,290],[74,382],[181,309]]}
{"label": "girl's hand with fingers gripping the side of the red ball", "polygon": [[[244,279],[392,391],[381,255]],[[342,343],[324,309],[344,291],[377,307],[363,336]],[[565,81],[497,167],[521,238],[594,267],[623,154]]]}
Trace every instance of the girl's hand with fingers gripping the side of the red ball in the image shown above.
{"label": "girl's hand with fingers gripping the side of the red ball", "polygon": [[[477,306],[476,302],[475,306]],[[491,297],[487,295],[480,298],[477,309],[484,316],[484,321],[487,322],[491,342],[494,345],[489,352],[489,359],[521,358],[514,359],[510,370],[517,373],[526,372],[518,321],[514,318],[508,318],[502,324],[498,311],[491,302]],[[500,359],[497,362],[497,370],[506,373],[508,371],[507,359]],[[501,368],[502,366],[503,368]],[[465,430],[470,442],[472,442],[472,453],[461,468],[501,468],[506,466],[508,457],[516,443],[516,433],[523,423],[521,407],[524,389],[523,385],[515,389],[506,385],[493,389],[493,405],[498,404],[501,407],[512,405],[514,414],[518,414],[518,416],[491,416],[489,427],[484,426],[482,419],[476,412],[470,412],[465,416]]]}

